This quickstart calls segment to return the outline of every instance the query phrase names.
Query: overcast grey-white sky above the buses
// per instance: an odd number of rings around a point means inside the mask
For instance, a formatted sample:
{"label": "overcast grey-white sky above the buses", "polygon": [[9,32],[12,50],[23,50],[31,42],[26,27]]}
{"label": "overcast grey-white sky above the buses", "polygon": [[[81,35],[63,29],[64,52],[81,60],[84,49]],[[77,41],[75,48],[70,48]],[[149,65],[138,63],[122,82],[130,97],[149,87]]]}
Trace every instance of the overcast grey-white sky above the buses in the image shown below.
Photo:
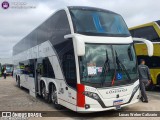
{"label": "overcast grey-white sky above the buses", "polygon": [[0,58],[11,57],[12,47],[18,41],[55,10],[65,6],[94,6],[111,10],[121,14],[128,27],[160,19],[160,0],[8,0],[11,5],[17,1],[35,8],[0,8]]}

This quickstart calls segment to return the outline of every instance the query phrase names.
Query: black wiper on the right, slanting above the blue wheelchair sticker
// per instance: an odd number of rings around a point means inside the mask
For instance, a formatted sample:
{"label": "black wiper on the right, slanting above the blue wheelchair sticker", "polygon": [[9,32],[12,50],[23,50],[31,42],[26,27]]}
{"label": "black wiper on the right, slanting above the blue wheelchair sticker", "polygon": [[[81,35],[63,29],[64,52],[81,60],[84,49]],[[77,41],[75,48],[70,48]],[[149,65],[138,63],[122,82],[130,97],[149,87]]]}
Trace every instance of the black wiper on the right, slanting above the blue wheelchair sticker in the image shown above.
{"label": "black wiper on the right, slanting above the blue wheelchair sticker", "polygon": [[126,70],[125,66],[122,64],[122,62],[119,60],[116,50],[115,50],[115,53],[116,53],[116,63],[117,63],[117,65],[118,65],[118,67],[121,68],[121,70],[126,73],[128,79],[131,81],[131,78],[130,78],[130,76],[129,76],[129,73],[128,73],[128,71]]}

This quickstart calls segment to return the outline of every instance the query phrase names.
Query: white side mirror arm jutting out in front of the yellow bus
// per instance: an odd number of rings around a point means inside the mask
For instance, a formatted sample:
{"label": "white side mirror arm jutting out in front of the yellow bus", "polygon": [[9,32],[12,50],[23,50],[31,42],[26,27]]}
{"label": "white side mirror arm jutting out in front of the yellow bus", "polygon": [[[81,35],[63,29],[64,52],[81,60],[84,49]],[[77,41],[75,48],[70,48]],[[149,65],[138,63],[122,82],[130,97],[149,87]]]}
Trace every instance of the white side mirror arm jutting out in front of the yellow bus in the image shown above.
{"label": "white side mirror arm jutting out in front of the yellow bus", "polygon": [[133,41],[135,42],[143,42],[147,45],[147,49],[148,49],[148,56],[153,56],[153,44],[151,41],[147,40],[147,39],[143,39],[143,38],[133,38]]}

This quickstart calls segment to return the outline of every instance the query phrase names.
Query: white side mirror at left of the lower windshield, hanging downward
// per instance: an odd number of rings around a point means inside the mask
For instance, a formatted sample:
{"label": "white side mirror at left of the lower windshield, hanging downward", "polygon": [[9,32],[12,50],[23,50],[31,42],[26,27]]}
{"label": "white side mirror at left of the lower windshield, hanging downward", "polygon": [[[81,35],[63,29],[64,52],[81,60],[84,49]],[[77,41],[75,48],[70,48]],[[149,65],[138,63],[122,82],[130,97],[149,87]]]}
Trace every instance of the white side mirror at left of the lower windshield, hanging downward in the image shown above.
{"label": "white side mirror at left of the lower windshield, hanging downward", "polygon": [[85,43],[83,39],[76,37],[75,35],[69,34],[65,35],[64,39],[73,39],[73,42],[75,44],[76,53],[78,56],[84,56],[85,55]]}

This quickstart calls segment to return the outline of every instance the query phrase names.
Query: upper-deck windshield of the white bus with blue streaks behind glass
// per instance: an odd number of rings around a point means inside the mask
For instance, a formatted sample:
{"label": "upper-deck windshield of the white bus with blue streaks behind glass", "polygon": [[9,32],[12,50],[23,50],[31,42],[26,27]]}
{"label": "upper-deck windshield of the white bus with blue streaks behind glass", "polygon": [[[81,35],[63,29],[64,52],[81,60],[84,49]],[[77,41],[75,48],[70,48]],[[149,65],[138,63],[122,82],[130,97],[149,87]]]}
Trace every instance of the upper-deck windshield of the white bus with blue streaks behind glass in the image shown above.
{"label": "upper-deck windshield of the white bus with blue streaks behind glass", "polygon": [[71,9],[76,33],[85,35],[130,36],[123,18],[105,10]]}

